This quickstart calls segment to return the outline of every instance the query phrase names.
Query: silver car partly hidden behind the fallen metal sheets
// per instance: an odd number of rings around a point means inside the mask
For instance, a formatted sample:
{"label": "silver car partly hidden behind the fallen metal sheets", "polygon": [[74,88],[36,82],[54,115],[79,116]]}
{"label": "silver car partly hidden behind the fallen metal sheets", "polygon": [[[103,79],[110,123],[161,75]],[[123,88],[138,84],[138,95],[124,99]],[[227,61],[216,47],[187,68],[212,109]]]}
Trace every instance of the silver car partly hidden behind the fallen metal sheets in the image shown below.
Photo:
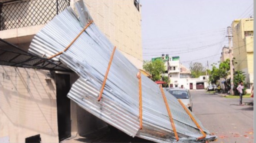
{"label": "silver car partly hidden behind the fallen metal sheets", "polygon": [[185,88],[171,88],[169,91],[174,97],[180,99],[184,105],[192,111],[192,96],[188,89]]}

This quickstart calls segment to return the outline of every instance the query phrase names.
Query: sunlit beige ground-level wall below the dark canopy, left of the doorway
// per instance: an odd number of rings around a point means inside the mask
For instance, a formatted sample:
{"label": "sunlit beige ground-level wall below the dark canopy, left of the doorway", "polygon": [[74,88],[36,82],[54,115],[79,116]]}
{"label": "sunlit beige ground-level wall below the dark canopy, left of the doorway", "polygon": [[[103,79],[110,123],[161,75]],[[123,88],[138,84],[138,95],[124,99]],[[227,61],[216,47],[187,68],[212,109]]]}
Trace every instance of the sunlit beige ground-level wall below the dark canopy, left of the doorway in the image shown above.
{"label": "sunlit beige ground-level wall below the dark canopy, left of the doorway", "polygon": [[[0,66],[0,137],[59,142],[56,84],[45,70]],[[46,80],[47,79],[47,80]]]}

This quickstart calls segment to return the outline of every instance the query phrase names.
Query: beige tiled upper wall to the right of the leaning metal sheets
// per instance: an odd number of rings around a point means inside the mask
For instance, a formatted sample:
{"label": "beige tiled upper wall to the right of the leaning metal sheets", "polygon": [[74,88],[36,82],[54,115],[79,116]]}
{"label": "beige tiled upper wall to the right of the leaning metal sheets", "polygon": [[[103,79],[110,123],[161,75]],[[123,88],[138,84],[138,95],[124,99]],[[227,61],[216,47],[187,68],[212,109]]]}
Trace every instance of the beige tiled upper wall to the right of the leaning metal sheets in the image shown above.
{"label": "beige tiled upper wall to the right of the leaning metal sheets", "polygon": [[84,0],[84,3],[106,37],[142,69],[141,14],[134,0]]}

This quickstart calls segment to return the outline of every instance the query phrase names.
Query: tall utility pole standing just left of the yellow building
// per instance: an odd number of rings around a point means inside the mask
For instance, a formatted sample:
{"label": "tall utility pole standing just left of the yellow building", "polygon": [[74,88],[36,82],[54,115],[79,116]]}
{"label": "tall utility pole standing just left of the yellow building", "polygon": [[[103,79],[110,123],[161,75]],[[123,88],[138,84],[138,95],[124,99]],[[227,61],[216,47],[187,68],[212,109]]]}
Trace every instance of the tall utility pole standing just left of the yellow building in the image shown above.
{"label": "tall utility pole standing just left of the yellow building", "polygon": [[231,85],[231,89],[230,89],[230,94],[234,95],[233,92],[233,87],[234,87],[234,83],[233,83],[233,79],[234,79],[234,75],[233,75],[233,55],[232,55],[232,48],[231,48],[231,27],[227,27],[227,34],[229,37],[229,65],[230,65],[230,85]]}

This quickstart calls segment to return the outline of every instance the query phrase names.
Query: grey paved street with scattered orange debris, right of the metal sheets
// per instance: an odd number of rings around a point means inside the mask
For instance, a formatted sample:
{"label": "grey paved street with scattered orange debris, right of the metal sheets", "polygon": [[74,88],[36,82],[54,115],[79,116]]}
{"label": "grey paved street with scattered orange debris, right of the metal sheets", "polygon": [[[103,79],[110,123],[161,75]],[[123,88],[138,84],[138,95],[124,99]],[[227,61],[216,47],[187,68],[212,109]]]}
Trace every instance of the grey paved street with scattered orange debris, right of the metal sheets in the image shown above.
{"label": "grey paved street with scattered orange debris, right of the metal sheets", "polygon": [[[217,143],[253,143],[253,106],[239,106],[239,99],[220,97],[205,91],[191,91],[193,113]],[[243,102],[253,101],[245,98]]]}

